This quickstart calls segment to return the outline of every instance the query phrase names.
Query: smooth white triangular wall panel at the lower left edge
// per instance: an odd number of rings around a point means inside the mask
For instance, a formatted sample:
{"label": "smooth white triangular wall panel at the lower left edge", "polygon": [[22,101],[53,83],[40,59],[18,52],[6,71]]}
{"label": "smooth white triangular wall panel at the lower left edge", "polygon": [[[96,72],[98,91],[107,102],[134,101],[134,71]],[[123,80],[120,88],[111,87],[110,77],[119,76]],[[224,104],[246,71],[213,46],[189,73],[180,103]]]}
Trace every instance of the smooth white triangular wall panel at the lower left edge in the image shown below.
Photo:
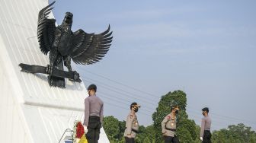
{"label": "smooth white triangular wall panel at the lower left edge", "polygon": [[[1,37],[0,37],[1,38]],[[1,39],[0,39],[1,43]],[[2,57],[0,57],[0,138],[1,142],[32,142],[26,132],[26,122],[21,117],[20,104],[14,99],[14,88],[8,78]],[[19,113],[20,111],[20,113]]]}

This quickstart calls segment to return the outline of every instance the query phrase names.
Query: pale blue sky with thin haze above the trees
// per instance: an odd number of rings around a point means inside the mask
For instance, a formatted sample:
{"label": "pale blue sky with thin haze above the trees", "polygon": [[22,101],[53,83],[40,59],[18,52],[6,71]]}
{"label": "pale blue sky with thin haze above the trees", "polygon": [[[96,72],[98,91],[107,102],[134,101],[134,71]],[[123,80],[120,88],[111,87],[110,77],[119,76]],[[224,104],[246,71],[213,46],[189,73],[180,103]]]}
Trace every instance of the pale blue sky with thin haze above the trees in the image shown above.
{"label": "pale blue sky with thin haze above the trees", "polygon": [[72,12],[73,31],[101,33],[108,24],[114,31],[101,62],[78,66],[85,85],[98,85],[105,116],[124,120],[136,101],[139,123],[148,126],[160,97],[182,90],[197,124],[209,106],[213,129],[244,122],[256,130],[255,6],[253,0],[62,0],[53,14],[60,24]]}

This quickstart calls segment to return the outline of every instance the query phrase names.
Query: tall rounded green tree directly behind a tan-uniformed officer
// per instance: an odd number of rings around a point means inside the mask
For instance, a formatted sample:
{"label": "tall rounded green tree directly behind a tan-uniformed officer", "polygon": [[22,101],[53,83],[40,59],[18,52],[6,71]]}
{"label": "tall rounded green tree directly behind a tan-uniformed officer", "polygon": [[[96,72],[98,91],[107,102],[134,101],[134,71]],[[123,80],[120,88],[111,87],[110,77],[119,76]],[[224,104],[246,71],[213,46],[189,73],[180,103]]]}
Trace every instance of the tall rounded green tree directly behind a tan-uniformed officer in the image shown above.
{"label": "tall rounded green tree directly behind a tan-uniformed officer", "polygon": [[165,116],[171,112],[170,106],[177,103],[181,111],[178,113],[177,134],[181,142],[195,142],[197,140],[196,124],[194,120],[188,119],[186,113],[187,95],[183,91],[169,92],[162,96],[158,102],[158,107],[152,115],[155,128],[155,141],[162,142],[161,122]]}

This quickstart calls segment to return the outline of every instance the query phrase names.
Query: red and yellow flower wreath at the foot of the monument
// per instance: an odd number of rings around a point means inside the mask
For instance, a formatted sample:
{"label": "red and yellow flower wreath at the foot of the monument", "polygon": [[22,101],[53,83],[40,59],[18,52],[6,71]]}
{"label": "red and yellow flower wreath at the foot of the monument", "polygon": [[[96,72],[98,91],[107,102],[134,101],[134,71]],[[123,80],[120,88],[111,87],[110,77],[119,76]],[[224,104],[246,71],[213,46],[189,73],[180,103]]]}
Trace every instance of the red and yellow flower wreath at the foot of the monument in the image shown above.
{"label": "red and yellow flower wreath at the foot of the monument", "polygon": [[85,138],[85,129],[81,121],[75,121],[73,131],[73,143],[88,143]]}

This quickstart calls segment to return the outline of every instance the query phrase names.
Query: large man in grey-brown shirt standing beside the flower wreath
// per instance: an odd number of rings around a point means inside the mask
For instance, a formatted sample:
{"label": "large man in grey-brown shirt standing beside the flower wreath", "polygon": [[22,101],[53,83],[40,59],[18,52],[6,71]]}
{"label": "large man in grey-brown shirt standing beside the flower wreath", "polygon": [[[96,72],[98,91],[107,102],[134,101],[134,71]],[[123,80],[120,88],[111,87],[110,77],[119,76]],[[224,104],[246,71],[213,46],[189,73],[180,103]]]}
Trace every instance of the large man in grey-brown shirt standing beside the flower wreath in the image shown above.
{"label": "large man in grey-brown shirt standing beside the flower wreath", "polygon": [[98,143],[103,121],[103,102],[99,97],[96,97],[96,85],[91,84],[87,91],[89,97],[85,98],[85,136],[88,143]]}

